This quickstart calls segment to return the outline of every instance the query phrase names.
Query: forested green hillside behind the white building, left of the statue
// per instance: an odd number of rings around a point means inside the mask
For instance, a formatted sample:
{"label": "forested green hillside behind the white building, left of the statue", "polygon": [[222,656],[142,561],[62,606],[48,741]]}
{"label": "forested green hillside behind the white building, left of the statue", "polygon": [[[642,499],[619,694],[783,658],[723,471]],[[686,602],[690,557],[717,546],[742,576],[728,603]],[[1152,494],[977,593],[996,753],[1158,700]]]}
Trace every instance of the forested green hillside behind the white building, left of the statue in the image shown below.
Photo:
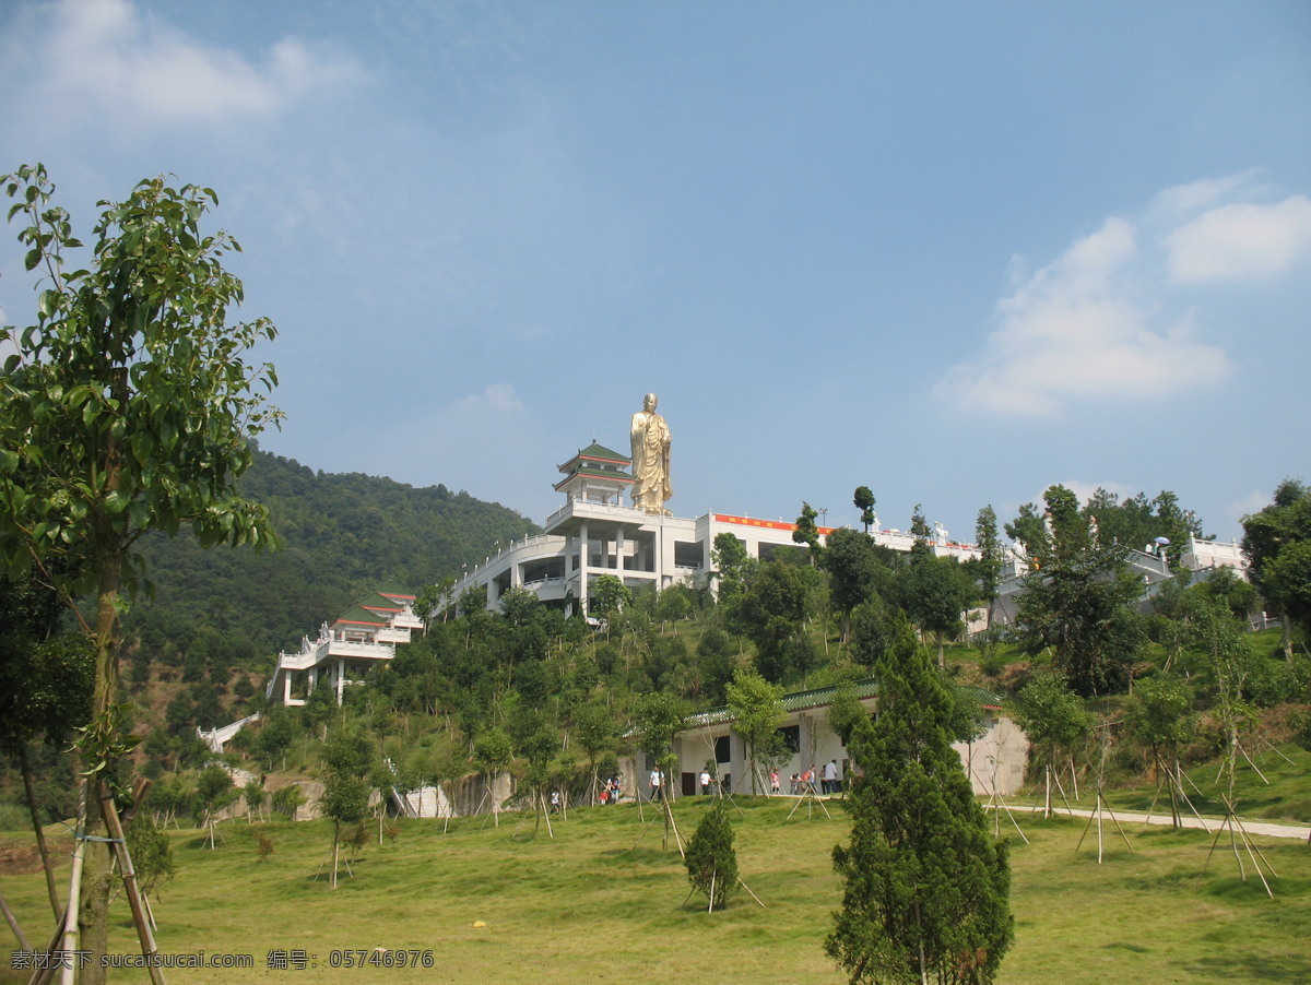
{"label": "forested green hillside behind the white building, left of the statue", "polygon": [[526,517],[446,486],[313,472],[257,452],[243,491],[269,507],[275,551],[202,550],[189,532],[144,542],[153,599],[125,620],[134,660],[193,672],[258,669],[296,648],[380,580],[418,588],[538,532]]}

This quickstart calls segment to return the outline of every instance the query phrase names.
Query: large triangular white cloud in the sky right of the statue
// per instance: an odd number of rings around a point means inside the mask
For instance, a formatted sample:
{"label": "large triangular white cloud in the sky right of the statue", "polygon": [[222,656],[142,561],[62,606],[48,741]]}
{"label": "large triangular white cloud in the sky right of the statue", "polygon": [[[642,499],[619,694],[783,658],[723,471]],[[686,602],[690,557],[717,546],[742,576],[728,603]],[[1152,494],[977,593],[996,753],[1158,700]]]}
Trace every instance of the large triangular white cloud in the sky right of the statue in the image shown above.
{"label": "large triangular white cloud in the sky right of the statue", "polygon": [[998,303],[983,358],[950,369],[935,394],[996,414],[1054,414],[1070,401],[1159,398],[1224,377],[1228,358],[1196,338],[1189,316],[1143,300],[1142,266],[1135,227],[1108,219]]}

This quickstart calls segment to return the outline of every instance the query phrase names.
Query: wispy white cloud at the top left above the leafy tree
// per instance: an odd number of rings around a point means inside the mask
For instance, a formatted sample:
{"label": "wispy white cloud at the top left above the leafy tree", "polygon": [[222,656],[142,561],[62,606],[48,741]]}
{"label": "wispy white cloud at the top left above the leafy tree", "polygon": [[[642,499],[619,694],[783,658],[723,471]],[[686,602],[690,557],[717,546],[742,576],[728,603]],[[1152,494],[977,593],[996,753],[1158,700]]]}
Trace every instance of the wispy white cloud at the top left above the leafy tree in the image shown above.
{"label": "wispy white cloud at the top left above the leafy tree", "polygon": [[128,0],[63,0],[51,14],[38,59],[43,88],[126,124],[271,117],[363,77],[354,60],[296,38],[256,64],[142,17]]}

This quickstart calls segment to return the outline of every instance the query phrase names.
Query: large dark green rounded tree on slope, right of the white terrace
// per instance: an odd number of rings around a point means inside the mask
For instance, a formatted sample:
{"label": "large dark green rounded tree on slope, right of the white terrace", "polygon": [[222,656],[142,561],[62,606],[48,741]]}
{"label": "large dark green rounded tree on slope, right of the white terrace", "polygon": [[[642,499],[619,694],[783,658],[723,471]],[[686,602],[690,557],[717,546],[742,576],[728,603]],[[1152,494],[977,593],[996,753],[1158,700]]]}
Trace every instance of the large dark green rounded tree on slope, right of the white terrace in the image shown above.
{"label": "large dark green rounded tree on slope, right of the white terrace", "polygon": [[1129,571],[1127,548],[1093,538],[1065,486],[1045,495],[1050,533],[1029,546],[1034,570],[1024,580],[1016,613],[1021,651],[1053,650],[1053,667],[1083,697],[1110,694],[1129,682],[1145,641],[1130,608],[1142,587]]}

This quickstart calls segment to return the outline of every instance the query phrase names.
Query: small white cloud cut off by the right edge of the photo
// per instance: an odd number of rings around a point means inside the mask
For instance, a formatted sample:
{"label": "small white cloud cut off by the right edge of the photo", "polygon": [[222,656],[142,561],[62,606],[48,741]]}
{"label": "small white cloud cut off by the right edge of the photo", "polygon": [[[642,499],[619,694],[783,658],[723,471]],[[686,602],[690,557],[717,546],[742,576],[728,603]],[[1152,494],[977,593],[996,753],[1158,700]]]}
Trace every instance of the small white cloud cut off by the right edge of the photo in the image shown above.
{"label": "small white cloud cut off by the right edge of the photo", "polygon": [[1311,255],[1311,200],[1211,208],[1165,237],[1176,283],[1270,279]]}

